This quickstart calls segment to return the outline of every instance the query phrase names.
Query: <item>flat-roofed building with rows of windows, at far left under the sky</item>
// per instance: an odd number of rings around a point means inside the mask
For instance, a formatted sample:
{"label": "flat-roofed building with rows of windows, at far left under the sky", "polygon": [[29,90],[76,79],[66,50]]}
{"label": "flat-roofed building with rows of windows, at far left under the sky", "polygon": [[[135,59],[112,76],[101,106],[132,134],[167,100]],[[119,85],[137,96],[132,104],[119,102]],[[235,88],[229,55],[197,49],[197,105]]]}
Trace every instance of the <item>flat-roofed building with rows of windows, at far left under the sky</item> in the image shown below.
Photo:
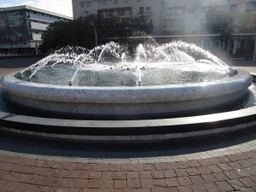
{"label": "flat-roofed building with rows of windows, at far left under the sky", "polygon": [[59,20],[73,18],[27,5],[0,8],[0,54],[38,53],[42,33]]}

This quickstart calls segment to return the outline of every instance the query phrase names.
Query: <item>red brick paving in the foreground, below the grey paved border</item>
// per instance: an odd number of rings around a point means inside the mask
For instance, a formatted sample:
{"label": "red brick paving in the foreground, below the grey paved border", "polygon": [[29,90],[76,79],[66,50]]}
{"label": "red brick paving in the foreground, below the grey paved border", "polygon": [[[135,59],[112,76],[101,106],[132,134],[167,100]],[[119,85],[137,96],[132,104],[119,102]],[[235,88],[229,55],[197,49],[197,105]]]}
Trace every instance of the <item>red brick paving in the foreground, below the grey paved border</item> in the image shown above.
{"label": "red brick paving in the foreground, below the grey paved border", "polygon": [[0,154],[2,192],[255,191],[256,151],[205,160],[90,164]]}

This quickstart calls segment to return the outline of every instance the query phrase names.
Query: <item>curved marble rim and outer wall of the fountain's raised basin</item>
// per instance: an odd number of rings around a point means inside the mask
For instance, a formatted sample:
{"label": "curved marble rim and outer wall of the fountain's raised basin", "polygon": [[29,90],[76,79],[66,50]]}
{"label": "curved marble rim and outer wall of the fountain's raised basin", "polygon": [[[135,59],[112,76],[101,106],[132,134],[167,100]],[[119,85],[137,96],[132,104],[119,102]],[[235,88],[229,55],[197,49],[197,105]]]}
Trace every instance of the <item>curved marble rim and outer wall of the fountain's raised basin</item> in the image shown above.
{"label": "curved marble rim and outer wall of the fountain's raised basin", "polygon": [[232,77],[216,82],[141,87],[92,87],[37,84],[3,77],[3,89],[11,102],[49,113],[90,116],[159,116],[217,108],[235,102],[252,84],[250,73],[237,70]]}

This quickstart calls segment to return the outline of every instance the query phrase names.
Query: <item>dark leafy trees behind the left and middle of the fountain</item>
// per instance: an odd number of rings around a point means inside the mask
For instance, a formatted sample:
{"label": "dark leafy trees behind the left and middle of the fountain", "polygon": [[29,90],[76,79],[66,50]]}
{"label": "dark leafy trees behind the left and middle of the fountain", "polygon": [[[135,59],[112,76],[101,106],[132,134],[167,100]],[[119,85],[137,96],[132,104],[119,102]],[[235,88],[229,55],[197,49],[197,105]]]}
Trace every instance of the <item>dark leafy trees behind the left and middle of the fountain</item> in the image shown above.
{"label": "dark leafy trees behind the left and middle of the fountain", "polygon": [[40,49],[44,52],[49,49],[61,49],[67,45],[80,46],[87,49],[95,47],[95,31],[97,38],[127,38],[132,32],[141,30],[152,32],[152,20],[138,17],[129,22],[119,22],[112,18],[102,18],[99,15],[89,15],[78,20],[51,23],[42,34],[43,44]]}

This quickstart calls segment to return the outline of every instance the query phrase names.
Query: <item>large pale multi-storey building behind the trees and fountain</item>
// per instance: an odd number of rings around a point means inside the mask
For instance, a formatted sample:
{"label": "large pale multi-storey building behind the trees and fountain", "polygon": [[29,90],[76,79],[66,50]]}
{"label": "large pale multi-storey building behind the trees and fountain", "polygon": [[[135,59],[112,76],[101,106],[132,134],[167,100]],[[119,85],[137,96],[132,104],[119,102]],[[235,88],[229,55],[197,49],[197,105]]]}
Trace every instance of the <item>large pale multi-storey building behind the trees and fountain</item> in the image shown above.
{"label": "large pale multi-storey building behind the trees and fountain", "polygon": [[96,14],[129,22],[143,15],[153,21],[151,35],[160,42],[182,38],[204,49],[249,53],[255,58],[256,32],[245,34],[239,27],[241,14],[253,12],[256,0],[73,0],[74,19]]}

